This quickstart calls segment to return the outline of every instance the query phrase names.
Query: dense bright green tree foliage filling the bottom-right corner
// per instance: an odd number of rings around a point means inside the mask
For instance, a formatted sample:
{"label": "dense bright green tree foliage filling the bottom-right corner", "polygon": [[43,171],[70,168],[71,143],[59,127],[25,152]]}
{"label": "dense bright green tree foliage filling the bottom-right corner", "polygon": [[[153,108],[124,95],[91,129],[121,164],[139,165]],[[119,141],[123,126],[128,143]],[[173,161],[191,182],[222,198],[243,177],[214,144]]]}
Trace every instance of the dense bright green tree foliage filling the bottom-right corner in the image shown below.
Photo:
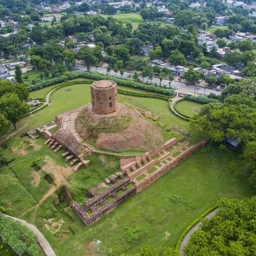
{"label": "dense bright green tree foliage filling the bottom-right corner", "polygon": [[[186,255],[254,255],[256,198],[221,199],[218,213],[192,234]],[[207,252],[207,253],[206,253]]]}

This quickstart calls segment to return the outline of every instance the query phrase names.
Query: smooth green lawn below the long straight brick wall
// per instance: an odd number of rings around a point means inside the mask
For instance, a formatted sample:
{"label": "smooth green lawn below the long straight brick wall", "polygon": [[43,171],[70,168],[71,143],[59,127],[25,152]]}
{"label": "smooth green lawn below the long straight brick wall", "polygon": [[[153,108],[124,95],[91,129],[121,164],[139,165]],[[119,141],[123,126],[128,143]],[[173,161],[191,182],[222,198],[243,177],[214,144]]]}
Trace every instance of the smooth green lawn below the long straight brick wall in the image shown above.
{"label": "smooth green lawn below the long straight brick wall", "polygon": [[[86,227],[71,209],[67,209],[67,216],[59,213],[64,219],[70,217],[73,220],[70,228],[74,230],[74,236],[67,241],[59,243],[46,230],[43,233],[58,255],[65,251],[81,255],[86,244],[94,240],[102,241],[100,248],[106,255],[135,253],[146,244],[154,244],[159,249],[173,247],[185,227],[221,197],[254,195],[254,189],[234,173],[234,164],[239,164],[236,153],[227,151],[222,154],[207,146],[92,227]],[[222,169],[220,178],[216,179]],[[40,216],[37,224],[41,226]],[[130,227],[140,227],[146,236],[130,244],[125,237],[125,230]]]}

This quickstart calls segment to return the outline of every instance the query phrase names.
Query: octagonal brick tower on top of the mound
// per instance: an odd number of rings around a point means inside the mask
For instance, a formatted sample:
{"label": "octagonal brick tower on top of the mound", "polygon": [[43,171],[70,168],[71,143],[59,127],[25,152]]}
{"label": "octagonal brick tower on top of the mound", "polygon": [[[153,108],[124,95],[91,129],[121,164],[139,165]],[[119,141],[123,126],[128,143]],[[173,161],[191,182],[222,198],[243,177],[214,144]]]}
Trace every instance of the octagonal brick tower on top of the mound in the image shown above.
{"label": "octagonal brick tower on top of the mound", "polygon": [[97,114],[109,114],[117,109],[117,85],[111,80],[95,81],[91,85],[92,110]]}

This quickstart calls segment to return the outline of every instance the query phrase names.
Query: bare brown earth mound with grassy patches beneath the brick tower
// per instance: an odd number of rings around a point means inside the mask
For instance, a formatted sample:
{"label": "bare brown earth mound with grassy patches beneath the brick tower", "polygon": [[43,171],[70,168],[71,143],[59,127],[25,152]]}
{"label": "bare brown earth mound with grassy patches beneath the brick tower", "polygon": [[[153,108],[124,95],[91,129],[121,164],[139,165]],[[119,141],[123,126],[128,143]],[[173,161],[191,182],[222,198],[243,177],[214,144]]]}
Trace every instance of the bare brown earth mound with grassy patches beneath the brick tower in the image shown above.
{"label": "bare brown earth mound with grassy patches beneath the brick tower", "polygon": [[92,105],[88,104],[79,112],[75,127],[88,144],[102,150],[149,151],[164,143],[157,124],[120,103],[117,111],[108,115],[96,114],[92,111]]}

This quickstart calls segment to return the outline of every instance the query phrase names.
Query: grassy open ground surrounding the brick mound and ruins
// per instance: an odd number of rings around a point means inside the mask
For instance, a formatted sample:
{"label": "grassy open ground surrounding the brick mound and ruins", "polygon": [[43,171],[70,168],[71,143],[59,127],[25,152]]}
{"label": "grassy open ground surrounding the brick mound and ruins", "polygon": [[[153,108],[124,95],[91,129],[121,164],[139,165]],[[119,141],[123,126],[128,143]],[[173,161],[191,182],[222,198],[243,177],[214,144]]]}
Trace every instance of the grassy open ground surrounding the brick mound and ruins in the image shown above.
{"label": "grassy open ground surrounding the brick mound and ruins", "polygon": [[[51,96],[50,106],[22,119],[16,134],[49,123],[57,114],[90,102],[88,84],[81,82],[69,88],[70,91],[58,89]],[[44,97],[49,90],[32,92],[31,97]],[[119,102],[159,115],[165,139],[182,139],[175,130],[167,132],[170,127],[189,130],[188,123],[171,114],[163,100],[119,94]],[[4,154],[15,160],[0,170],[0,201],[10,202],[14,216],[36,224],[57,255],[135,253],[146,244],[155,244],[160,249],[174,247],[185,227],[221,197],[254,195],[254,189],[235,174],[238,153],[220,152],[216,145],[209,144],[92,227],[86,227],[68,207],[61,188],[66,187],[74,200],[83,202],[87,189],[119,170],[119,160],[92,155],[90,167],[73,174],[61,158],[63,151],[54,154],[43,145],[44,141],[14,137],[5,142]],[[54,206],[57,198],[61,203]],[[137,227],[141,232],[134,235]]]}

